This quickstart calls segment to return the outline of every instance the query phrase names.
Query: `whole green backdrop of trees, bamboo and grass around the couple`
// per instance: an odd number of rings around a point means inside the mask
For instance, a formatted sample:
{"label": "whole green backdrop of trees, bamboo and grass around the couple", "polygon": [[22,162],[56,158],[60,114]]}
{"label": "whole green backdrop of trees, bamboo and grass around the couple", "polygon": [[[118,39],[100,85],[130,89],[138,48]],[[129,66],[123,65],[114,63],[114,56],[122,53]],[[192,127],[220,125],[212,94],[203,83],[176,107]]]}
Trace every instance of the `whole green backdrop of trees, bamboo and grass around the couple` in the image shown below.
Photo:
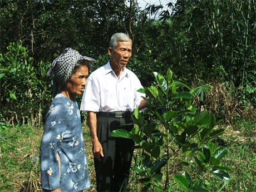
{"label": "whole green backdrop of trees, bamboo and grass around the couple", "polygon": [[[166,74],[170,68],[175,80],[195,90],[198,111],[213,111],[224,120],[226,133],[216,145],[227,145],[225,163],[234,171],[231,184],[222,191],[255,190],[255,0],[177,0],[145,9],[137,0],[0,3],[1,190],[41,191],[38,150],[43,117],[52,100],[46,76],[50,63],[71,47],[95,58],[95,70],[109,60],[107,48],[116,32],[132,38],[133,56],[127,67],[143,86],[154,84],[152,71]],[[163,11],[163,6],[171,11]],[[84,128],[90,146],[85,124]],[[93,186],[90,147],[87,158]],[[174,160],[175,171],[179,164]],[[217,181],[209,186],[220,189]],[[132,181],[130,189],[139,186]]]}

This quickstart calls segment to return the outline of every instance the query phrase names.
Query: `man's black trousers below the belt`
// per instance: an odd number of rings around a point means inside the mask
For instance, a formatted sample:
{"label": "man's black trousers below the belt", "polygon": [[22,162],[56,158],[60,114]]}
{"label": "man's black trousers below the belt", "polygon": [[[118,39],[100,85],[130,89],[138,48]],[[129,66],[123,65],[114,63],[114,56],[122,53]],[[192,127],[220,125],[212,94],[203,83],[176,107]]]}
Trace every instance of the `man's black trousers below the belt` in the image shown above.
{"label": "man's black trousers below the belt", "polygon": [[97,191],[125,191],[128,181],[134,141],[111,136],[116,129],[131,131],[131,117],[115,118],[99,116],[97,120],[97,137],[102,145],[104,157],[101,161],[94,159]]}

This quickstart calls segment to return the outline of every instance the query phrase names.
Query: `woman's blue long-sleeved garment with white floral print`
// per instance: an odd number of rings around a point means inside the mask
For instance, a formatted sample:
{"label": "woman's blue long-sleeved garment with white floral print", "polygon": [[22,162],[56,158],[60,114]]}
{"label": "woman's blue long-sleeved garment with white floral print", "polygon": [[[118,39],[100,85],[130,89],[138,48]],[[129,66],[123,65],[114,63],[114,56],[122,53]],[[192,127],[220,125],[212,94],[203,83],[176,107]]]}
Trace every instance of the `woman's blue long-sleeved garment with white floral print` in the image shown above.
{"label": "woman's blue long-sleeved garment with white floral print", "polygon": [[43,189],[71,192],[90,188],[80,111],[76,102],[61,93],[46,115],[40,166]]}

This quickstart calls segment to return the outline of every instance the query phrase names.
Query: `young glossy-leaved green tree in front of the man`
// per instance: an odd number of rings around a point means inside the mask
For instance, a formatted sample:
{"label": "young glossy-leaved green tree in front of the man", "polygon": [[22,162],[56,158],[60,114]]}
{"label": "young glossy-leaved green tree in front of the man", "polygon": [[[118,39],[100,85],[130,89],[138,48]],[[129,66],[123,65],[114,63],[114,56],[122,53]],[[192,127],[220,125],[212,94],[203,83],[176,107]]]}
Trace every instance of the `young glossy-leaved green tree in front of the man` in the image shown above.
{"label": "young glossy-leaved green tree in front of the man", "polygon": [[[178,154],[185,168],[194,162],[197,165],[193,175],[183,171],[183,174],[173,176],[173,181],[182,190],[208,191],[199,176],[203,173],[213,175],[224,184],[228,183],[228,172],[232,169],[220,162],[227,154],[227,148],[214,149],[210,142],[224,131],[215,129],[220,121],[216,121],[213,112],[208,114],[207,111],[200,111],[196,114],[192,104],[194,91],[184,83],[174,81],[171,70],[168,70],[166,80],[160,73],[153,74],[157,86],[138,91],[147,95],[144,99],[150,114],[154,116],[148,118],[135,109],[133,119],[137,126],[130,132],[118,129],[111,133],[113,136],[133,139],[136,148],[142,149],[140,162],[134,168],[139,182],[144,186],[141,191],[150,188],[170,191],[173,185],[170,183],[169,166],[171,158]],[[188,157],[194,160],[188,162]]]}

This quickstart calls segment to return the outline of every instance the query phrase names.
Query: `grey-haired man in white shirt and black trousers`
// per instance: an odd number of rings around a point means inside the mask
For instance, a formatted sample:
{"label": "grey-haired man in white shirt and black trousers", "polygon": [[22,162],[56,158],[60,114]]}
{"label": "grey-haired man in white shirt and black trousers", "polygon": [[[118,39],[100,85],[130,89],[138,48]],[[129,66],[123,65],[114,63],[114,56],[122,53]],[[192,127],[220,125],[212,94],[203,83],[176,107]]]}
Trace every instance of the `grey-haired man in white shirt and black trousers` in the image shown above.
{"label": "grey-haired man in white shirt and black trousers", "polygon": [[[115,33],[108,51],[111,60],[88,78],[81,111],[88,112],[97,191],[125,191],[134,141],[112,137],[111,132],[130,124],[131,112],[145,108],[146,101],[141,97],[145,95],[137,92],[142,88],[139,79],[126,68],[132,52],[130,37]],[[127,131],[132,128],[122,126]]]}

